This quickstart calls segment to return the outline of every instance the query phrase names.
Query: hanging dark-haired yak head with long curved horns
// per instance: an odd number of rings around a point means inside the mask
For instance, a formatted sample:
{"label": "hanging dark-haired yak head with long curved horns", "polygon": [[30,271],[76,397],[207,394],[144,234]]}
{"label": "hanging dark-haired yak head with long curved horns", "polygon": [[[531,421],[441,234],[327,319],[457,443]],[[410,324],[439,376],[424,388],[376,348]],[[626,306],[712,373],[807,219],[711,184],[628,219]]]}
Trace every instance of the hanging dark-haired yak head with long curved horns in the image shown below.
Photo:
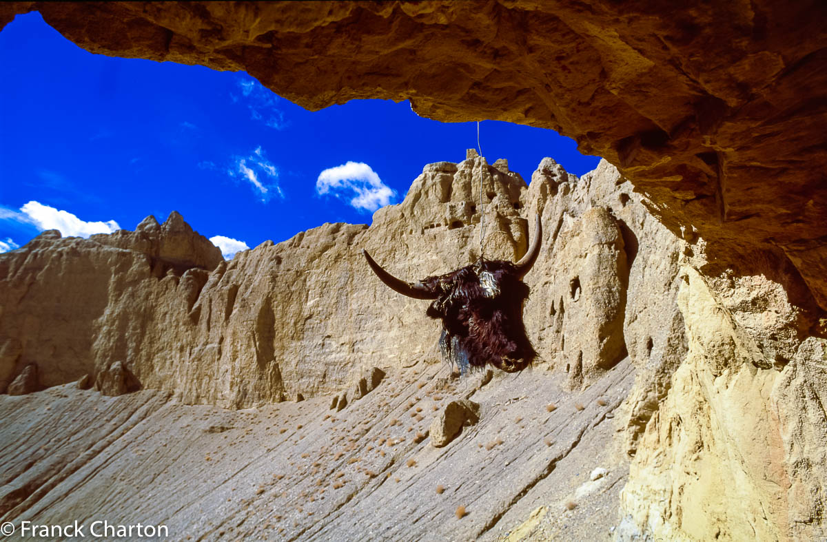
{"label": "hanging dark-haired yak head with long curved horns", "polygon": [[442,355],[462,373],[469,366],[485,364],[516,373],[537,356],[523,326],[523,301],[528,297],[523,276],[540,254],[542,236],[538,216],[528,252],[516,264],[480,258],[475,264],[417,283],[394,277],[367,250],[362,254],[376,276],[395,292],[432,300],[426,314],[442,320]]}

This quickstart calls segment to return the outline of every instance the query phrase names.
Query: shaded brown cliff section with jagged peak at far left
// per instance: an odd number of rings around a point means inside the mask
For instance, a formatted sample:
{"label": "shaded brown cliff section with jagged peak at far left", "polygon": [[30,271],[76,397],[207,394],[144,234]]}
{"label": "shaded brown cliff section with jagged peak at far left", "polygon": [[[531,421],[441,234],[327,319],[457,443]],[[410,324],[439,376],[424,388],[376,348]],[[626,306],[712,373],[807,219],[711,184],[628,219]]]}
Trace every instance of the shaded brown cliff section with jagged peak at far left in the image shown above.
{"label": "shaded brown cliff section with jagged peak at far left", "polygon": [[0,390],[26,364],[40,364],[41,383],[54,386],[97,374],[112,359],[140,366],[186,340],[175,332],[175,312],[187,310],[219,261],[221,251],[177,212],[163,225],[150,216],[134,232],[89,239],[44,231],[3,254]]}

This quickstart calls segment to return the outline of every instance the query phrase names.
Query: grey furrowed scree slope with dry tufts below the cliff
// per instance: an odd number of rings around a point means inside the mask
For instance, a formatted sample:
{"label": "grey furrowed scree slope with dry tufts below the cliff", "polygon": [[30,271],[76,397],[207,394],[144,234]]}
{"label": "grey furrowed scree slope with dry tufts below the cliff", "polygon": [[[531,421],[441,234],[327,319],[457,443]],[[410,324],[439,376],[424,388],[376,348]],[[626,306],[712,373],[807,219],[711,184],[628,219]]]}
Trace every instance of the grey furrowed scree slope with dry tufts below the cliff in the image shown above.
{"label": "grey furrowed scree slope with dry tufts below the cliff", "polygon": [[[572,393],[544,368],[482,384],[429,361],[342,411],[331,397],[227,411],[75,384],[0,396],[0,519],[141,521],[174,540],[611,538],[628,362]],[[435,448],[431,423],[458,398],[479,421]]]}

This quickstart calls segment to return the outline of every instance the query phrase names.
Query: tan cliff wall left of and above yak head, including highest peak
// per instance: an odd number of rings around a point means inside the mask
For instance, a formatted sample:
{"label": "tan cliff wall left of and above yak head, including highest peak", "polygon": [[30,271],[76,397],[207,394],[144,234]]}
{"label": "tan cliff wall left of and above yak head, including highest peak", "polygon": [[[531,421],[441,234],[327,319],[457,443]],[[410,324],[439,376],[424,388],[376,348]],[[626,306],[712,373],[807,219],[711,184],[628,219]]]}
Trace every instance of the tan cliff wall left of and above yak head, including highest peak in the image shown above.
{"label": "tan cliff wall left of and above yak head, including highest peak", "polygon": [[229,262],[178,213],[88,240],[45,232],[0,257],[0,377],[36,362],[52,386],[122,360],[143,387],[235,408],[355,383],[342,408],[376,371],[434,360],[439,337],[427,303],[386,288],[361,249],[411,280],[469,264],[479,254],[482,173],[485,254],[519,259],[528,187],[504,161],[480,157],[425,166],[370,229],[326,224]]}

